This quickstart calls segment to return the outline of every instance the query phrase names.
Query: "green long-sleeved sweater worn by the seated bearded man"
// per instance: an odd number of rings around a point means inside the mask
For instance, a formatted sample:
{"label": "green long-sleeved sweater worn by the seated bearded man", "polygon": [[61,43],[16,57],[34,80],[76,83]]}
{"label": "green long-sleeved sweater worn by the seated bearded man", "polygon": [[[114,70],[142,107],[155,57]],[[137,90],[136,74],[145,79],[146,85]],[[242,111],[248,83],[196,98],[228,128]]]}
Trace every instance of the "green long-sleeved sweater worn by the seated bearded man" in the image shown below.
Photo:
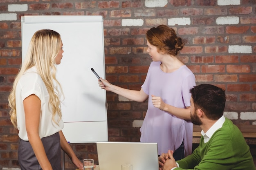
{"label": "green long-sleeved sweater worn by the seated bearded man", "polygon": [[227,118],[206,144],[201,137],[200,144],[192,155],[177,163],[180,168],[175,170],[256,170],[242,133]]}

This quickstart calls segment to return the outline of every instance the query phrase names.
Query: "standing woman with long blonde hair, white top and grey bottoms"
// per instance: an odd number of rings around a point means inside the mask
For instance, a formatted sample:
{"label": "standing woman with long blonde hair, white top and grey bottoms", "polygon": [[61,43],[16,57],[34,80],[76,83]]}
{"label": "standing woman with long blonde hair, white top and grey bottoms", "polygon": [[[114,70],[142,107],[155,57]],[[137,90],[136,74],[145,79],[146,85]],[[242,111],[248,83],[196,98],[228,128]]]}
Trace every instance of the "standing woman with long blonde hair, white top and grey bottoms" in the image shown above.
{"label": "standing woman with long blonde hair, white top and grey bottoms", "polygon": [[62,46],[56,31],[36,31],[8,98],[11,122],[19,130],[21,170],[61,170],[61,149],[83,169],[61,131],[64,124],[56,64],[61,63]]}

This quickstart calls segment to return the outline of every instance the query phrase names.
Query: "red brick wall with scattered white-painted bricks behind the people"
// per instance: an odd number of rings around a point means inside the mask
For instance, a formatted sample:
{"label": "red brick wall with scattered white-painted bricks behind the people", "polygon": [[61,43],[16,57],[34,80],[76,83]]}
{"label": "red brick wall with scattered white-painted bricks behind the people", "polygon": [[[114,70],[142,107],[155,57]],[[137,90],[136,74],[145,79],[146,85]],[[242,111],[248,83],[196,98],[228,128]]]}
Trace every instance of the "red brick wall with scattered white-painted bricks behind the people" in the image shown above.
{"label": "red brick wall with scattered white-painted bricks behind the people", "polygon": [[[17,130],[9,120],[13,78],[21,64],[24,15],[102,15],[106,79],[139,90],[151,62],[146,31],[166,24],[186,42],[180,60],[196,83],[226,90],[225,115],[256,124],[256,0],[0,0],[0,169],[18,168]],[[139,141],[147,103],[107,92],[109,141]],[[94,158],[95,144],[70,144],[79,159]],[[74,166],[65,157],[66,169]]]}

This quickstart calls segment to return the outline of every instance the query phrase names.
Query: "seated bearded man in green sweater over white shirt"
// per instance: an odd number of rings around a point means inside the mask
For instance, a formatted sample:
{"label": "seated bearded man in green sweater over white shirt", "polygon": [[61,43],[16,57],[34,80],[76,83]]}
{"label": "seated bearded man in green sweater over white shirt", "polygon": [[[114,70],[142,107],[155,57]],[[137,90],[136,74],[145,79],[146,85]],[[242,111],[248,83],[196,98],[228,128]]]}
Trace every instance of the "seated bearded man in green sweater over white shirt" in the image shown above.
{"label": "seated bearded man in green sweater over white shirt", "polygon": [[223,116],[225,91],[210,84],[190,90],[191,121],[202,128],[198,148],[175,162],[173,151],[159,157],[159,170],[255,170],[249,146],[236,125]]}

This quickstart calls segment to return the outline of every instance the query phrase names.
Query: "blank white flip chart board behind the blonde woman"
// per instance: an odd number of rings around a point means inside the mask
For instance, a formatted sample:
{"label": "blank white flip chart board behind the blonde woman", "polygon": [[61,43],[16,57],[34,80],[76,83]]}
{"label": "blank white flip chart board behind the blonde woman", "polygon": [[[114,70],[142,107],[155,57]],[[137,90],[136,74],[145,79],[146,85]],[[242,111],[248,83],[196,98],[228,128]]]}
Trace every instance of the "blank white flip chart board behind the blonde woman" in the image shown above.
{"label": "blank white flip chart board behind the blonde woman", "polygon": [[21,17],[22,61],[34,33],[52,29],[61,35],[63,58],[56,77],[64,98],[63,133],[70,143],[108,141],[106,91],[98,85],[105,78],[102,16],[46,15]]}

